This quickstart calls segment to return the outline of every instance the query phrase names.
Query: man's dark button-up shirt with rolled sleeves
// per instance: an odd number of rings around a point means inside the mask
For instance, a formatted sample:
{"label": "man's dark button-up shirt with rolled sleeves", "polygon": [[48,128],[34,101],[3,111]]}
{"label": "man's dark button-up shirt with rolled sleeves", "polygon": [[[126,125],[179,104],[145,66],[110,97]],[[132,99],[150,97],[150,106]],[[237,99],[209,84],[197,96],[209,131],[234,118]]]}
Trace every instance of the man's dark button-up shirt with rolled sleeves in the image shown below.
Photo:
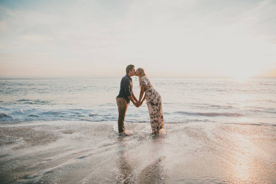
{"label": "man's dark button-up shirt with rolled sleeves", "polygon": [[125,76],[123,76],[122,80],[121,80],[121,84],[120,84],[120,92],[119,95],[116,97],[124,97],[127,100],[127,103],[129,104],[130,100],[129,100],[129,96],[131,96],[132,93],[132,79],[131,77],[126,74]]}

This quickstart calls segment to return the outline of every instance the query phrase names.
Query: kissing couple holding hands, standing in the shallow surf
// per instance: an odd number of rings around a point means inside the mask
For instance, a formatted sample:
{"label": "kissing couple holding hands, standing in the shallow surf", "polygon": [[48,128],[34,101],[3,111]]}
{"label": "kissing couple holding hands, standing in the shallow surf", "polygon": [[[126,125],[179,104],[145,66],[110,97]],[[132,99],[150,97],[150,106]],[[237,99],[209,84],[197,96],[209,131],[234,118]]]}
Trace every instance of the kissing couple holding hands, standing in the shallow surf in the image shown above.
{"label": "kissing couple holding hands, standing in the shallow surf", "polygon": [[[141,88],[139,100],[136,99],[132,90],[133,83],[131,77],[134,75],[139,77],[139,87]],[[135,71],[134,65],[128,65],[126,68],[126,75],[123,76],[120,83],[119,95],[116,97],[119,112],[119,133],[124,133],[124,118],[126,117],[127,108],[129,106],[130,101],[136,107],[140,107],[143,104],[143,101],[145,100],[147,108],[149,110],[152,134],[164,134],[165,130],[162,112],[162,101],[160,94],[158,93],[158,91],[154,89],[150,79],[145,74],[143,68],[137,68],[137,70]]]}

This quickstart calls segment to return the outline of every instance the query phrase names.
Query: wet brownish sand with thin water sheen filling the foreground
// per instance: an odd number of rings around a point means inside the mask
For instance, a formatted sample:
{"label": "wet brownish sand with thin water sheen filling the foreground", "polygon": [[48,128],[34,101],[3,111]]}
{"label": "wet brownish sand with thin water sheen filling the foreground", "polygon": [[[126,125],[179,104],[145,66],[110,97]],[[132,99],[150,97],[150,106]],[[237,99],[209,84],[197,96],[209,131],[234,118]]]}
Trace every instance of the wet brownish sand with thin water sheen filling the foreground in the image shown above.
{"label": "wet brownish sand with thin water sheen filling the foreground", "polygon": [[276,126],[1,122],[0,183],[276,183]]}

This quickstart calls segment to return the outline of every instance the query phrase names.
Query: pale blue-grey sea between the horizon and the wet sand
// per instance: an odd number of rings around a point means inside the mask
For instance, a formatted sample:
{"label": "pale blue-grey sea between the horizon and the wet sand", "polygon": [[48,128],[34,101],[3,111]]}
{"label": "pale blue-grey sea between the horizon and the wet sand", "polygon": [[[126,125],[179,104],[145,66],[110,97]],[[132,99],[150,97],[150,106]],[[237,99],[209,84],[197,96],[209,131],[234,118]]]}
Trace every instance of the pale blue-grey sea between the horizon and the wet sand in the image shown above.
{"label": "pale blue-grey sea between the horizon and the wet sand", "polygon": [[[0,79],[0,122],[117,120],[121,78]],[[151,78],[166,122],[276,125],[276,78]],[[138,81],[133,90],[139,95]],[[146,104],[127,122],[149,122]]]}

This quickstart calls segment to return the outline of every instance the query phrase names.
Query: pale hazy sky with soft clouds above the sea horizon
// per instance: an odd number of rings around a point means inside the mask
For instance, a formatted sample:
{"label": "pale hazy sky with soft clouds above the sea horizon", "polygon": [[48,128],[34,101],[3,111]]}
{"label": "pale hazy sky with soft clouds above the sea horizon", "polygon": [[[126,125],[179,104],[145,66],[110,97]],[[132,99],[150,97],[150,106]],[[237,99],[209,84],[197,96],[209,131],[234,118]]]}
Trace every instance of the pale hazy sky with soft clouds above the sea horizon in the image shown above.
{"label": "pale hazy sky with soft clouds above the sea horizon", "polygon": [[276,77],[275,0],[0,0],[0,78]]}

